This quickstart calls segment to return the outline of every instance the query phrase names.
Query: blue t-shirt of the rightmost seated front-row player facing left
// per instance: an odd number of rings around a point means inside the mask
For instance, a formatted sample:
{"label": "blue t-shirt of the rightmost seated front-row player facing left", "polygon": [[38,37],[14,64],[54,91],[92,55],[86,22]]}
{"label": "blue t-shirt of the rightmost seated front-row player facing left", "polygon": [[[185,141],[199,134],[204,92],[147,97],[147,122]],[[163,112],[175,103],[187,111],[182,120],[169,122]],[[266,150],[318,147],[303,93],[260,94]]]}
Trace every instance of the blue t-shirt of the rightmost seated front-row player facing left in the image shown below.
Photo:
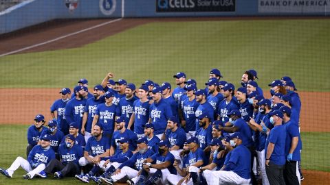
{"label": "blue t-shirt of the rightmost seated front-row player facing left", "polygon": [[244,145],[239,145],[234,148],[230,154],[229,162],[235,164],[235,168],[232,169],[234,173],[240,177],[248,180],[251,178],[251,153]]}

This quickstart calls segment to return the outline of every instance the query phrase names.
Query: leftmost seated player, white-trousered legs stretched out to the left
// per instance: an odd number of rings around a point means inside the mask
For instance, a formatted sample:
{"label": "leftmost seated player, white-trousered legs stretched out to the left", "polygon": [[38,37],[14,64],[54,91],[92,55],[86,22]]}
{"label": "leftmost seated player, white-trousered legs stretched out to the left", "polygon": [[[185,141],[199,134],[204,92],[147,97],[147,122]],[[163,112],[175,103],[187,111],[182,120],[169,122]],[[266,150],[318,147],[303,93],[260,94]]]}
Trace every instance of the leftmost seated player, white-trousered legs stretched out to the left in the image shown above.
{"label": "leftmost seated player, white-trousered legs stretched out to the left", "polygon": [[27,174],[23,175],[23,179],[30,180],[40,173],[46,167],[46,165],[55,158],[55,153],[50,147],[50,138],[45,135],[41,137],[41,145],[36,145],[33,147],[29,153],[28,160],[22,157],[17,157],[12,163],[9,169],[0,169],[0,173],[8,178],[11,178],[14,171],[22,167]]}

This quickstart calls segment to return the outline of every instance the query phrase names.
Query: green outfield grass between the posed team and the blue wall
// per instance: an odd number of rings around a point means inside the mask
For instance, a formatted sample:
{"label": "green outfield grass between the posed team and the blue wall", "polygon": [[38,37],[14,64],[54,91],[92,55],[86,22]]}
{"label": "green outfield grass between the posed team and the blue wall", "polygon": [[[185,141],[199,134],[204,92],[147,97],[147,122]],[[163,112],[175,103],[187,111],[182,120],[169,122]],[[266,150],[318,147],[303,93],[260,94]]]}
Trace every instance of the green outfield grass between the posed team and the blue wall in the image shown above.
{"label": "green outfield grass between the posed team and the blue wall", "polygon": [[0,58],[0,87],[100,83],[108,71],[129,82],[171,82],[184,71],[199,84],[219,68],[239,85],[256,69],[259,85],[289,75],[299,90],[329,91],[330,19],[149,23],[77,49]]}

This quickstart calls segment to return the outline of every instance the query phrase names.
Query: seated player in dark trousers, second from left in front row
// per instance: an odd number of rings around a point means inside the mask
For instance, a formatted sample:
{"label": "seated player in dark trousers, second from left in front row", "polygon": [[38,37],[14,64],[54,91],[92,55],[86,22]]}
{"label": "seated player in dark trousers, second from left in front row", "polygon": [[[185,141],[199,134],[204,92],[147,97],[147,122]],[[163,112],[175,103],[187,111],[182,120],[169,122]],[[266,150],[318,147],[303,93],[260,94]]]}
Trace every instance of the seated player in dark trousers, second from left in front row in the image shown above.
{"label": "seated player in dark trousers, second from left in front row", "polygon": [[58,148],[60,160],[51,160],[45,168],[46,174],[54,173],[54,177],[57,179],[67,176],[74,177],[80,173],[78,160],[83,157],[83,148],[75,144],[76,138],[73,135],[69,134],[64,139],[65,142]]}

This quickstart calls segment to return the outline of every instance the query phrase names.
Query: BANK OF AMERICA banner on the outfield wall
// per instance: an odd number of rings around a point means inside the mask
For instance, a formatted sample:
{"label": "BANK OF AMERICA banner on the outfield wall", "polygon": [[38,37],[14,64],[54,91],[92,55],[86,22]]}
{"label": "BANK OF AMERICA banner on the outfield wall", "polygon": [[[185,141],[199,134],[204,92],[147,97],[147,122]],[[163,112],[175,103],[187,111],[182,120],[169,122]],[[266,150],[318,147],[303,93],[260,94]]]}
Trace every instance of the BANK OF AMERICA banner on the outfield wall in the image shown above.
{"label": "BANK OF AMERICA banner on the outfield wall", "polygon": [[259,12],[330,12],[329,3],[330,0],[259,0]]}

